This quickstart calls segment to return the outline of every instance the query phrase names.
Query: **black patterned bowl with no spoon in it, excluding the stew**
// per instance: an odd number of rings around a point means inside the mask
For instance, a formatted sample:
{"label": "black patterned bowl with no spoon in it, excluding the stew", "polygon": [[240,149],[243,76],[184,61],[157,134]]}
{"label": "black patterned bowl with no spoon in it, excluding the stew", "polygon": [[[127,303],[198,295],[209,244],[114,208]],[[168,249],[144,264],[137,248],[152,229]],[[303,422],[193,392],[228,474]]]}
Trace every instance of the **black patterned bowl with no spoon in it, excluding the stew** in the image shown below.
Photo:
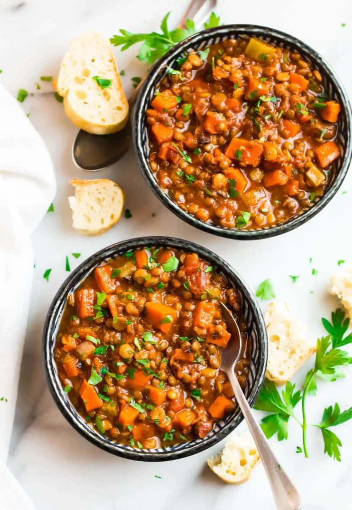
{"label": "black patterned bowl with no spoon in it, excluding the stew", "polygon": [[[322,197],[315,197],[309,207],[283,224],[272,227],[267,226],[261,230],[247,231],[239,228],[224,228],[198,220],[194,216],[191,216],[191,214],[186,213],[179,208],[168,194],[159,187],[154,173],[151,171],[148,163],[149,139],[145,111],[149,108],[150,101],[154,96],[155,89],[158,88],[160,80],[166,74],[166,67],[168,65],[174,67],[176,59],[182,57],[184,52],[190,53],[194,50],[198,51],[209,44],[214,44],[215,42],[223,41],[224,39],[249,39],[252,36],[263,39],[266,42],[271,42],[282,48],[288,48],[291,50],[296,49],[303,58],[310,63],[312,69],[317,69],[321,73],[323,79],[322,84],[328,97],[335,99],[341,105],[341,113],[339,115],[338,122],[338,141],[342,149],[342,154],[337,161],[336,172],[334,172],[334,175],[331,176],[330,182],[328,183]],[[137,99],[134,110],[133,142],[140,171],[147,181],[148,186],[161,200],[161,202],[179,218],[197,228],[200,228],[201,230],[204,230],[205,232],[209,232],[210,234],[215,234],[217,236],[228,237],[231,239],[263,239],[266,237],[277,236],[285,232],[290,232],[302,223],[308,221],[310,218],[313,218],[313,216],[315,216],[323,209],[323,207],[326,206],[328,202],[330,202],[340,188],[351,161],[351,124],[351,107],[347,94],[333,69],[313,48],[289,34],[267,27],[259,27],[257,25],[224,25],[215,29],[204,30],[185,39],[174,46],[157,62],[144,82]]]}

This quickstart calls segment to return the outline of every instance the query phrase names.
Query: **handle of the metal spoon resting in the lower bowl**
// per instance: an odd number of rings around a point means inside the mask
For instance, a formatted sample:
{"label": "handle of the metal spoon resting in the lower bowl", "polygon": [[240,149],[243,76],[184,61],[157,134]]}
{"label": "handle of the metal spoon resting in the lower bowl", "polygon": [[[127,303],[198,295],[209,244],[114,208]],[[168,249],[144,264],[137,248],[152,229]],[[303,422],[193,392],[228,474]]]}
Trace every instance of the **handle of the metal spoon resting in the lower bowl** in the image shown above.
{"label": "handle of the metal spoon resting in the lower bowl", "polygon": [[261,456],[265,471],[267,473],[271,490],[275,499],[277,510],[299,510],[301,500],[297,489],[291,482],[274,455],[264,433],[254,418],[254,414],[243,394],[237,377],[232,370],[228,370],[227,376],[231,382],[234,396],[241,408],[248,428],[252,434],[256,447]]}

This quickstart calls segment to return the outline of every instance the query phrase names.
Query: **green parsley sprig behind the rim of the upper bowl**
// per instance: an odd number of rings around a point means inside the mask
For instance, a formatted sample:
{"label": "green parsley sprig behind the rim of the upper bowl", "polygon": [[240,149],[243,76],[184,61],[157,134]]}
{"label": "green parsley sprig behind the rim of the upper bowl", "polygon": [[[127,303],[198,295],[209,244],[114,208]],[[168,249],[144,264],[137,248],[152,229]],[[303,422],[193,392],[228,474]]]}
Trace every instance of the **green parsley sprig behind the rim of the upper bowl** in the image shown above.
{"label": "green parsley sprig behind the rim of the upper bowl", "polygon": [[[143,42],[142,46],[139,48],[137,58],[141,62],[151,65],[165,55],[170,48],[175,46],[175,44],[197,32],[194,21],[190,19],[187,19],[185,29],[169,30],[169,16],[170,12],[162,18],[160,24],[161,33],[151,32],[149,34],[133,34],[127,30],[120,29],[121,35],[114,35],[111,37],[110,42],[114,46],[122,46],[122,52],[133,46],[133,44]],[[204,28],[208,29],[218,27],[219,23],[220,18],[212,12],[209,19],[204,23]]]}

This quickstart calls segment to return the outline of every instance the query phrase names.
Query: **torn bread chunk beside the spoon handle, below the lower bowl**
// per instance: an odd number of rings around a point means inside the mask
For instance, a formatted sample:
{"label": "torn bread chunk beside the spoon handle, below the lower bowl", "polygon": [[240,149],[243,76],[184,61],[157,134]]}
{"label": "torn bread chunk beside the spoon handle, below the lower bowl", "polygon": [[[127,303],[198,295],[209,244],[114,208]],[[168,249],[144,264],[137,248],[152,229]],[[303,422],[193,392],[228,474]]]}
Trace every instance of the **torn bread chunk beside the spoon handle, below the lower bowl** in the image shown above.
{"label": "torn bread chunk beside the spoon handle, below the lower bowl", "polygon": [[222,480],[238,485],[249,479],[259,461],[254,440],[246,432],[241,436],[231,434],[225,448],[218,455],[208,458],[207,464]]}

